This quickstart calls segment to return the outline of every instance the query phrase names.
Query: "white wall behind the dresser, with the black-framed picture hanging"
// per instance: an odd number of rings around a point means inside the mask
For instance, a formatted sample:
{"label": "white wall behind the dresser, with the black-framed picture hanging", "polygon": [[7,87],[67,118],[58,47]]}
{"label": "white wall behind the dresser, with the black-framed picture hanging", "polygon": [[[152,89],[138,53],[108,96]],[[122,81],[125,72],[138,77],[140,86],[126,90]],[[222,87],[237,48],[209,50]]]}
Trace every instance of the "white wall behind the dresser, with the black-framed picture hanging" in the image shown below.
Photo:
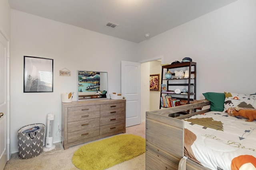
{"label": "white wall behind the dresser, with the black-framed picture hanging", "polygon": [[[54,142],[61,125],[61,98],[75,92],[77,70],[108,72],[108,92],[121,91],[121,60],[137,61],[137,44],[72,25],[11,10],[11,150],[16,152],[16,132],[24,125],[44,123],[54,113]],[[54,59],[54,92],[23,93],[23,56]],[[59,76],[59,70],[71,76]]]}

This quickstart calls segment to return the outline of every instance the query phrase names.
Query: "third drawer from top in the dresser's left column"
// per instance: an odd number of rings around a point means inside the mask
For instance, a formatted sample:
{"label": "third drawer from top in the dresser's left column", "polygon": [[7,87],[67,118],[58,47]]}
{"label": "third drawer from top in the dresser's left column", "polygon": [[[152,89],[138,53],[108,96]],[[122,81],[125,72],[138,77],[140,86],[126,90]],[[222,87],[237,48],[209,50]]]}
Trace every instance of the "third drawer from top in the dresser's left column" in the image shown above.
{"label": "third drawer from top in the dresser's left column", "polygon": [[68,122],[68,133],[100,126],[100,118]]}

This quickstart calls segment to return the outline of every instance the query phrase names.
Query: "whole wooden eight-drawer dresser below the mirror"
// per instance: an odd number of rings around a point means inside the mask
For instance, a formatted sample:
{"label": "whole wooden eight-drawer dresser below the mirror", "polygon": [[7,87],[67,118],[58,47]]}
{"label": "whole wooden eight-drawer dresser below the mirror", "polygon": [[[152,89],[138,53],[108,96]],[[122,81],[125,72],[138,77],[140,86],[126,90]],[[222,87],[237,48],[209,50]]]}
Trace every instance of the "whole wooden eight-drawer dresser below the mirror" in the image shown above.
{"label": "whole wooden eight-drawer dresser below the mirror", "polygon": [[62,103],[64,149],[126,132],[126,100],[87,100]]}

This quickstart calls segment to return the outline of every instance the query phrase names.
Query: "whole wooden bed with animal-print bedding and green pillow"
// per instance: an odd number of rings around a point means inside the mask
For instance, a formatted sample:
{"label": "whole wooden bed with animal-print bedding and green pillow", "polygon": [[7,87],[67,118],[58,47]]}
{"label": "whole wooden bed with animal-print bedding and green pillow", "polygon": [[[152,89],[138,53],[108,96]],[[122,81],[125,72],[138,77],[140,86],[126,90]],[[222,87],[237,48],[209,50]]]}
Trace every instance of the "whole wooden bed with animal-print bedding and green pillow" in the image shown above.
{"label": "whole wooden bed with animal-print bedding and green pillow", "polygon": [[256,120],[226,113],[236,106],[254,109],[256,96],[204,96],[207,100],[146,112],[146,170],[256,169]]}

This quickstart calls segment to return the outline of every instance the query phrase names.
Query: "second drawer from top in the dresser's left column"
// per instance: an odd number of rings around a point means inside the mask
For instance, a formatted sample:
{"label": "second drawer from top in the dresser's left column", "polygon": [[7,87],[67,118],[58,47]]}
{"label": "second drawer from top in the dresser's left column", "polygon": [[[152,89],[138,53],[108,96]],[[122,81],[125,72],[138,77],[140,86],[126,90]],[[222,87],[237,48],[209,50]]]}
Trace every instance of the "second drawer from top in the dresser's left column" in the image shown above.
{"label": "second drawer from top in the dresser's left column", "polygon": [[68,114],[68,122],[93,119],[100,117],[100,111],[92,111],[86,113]]}

